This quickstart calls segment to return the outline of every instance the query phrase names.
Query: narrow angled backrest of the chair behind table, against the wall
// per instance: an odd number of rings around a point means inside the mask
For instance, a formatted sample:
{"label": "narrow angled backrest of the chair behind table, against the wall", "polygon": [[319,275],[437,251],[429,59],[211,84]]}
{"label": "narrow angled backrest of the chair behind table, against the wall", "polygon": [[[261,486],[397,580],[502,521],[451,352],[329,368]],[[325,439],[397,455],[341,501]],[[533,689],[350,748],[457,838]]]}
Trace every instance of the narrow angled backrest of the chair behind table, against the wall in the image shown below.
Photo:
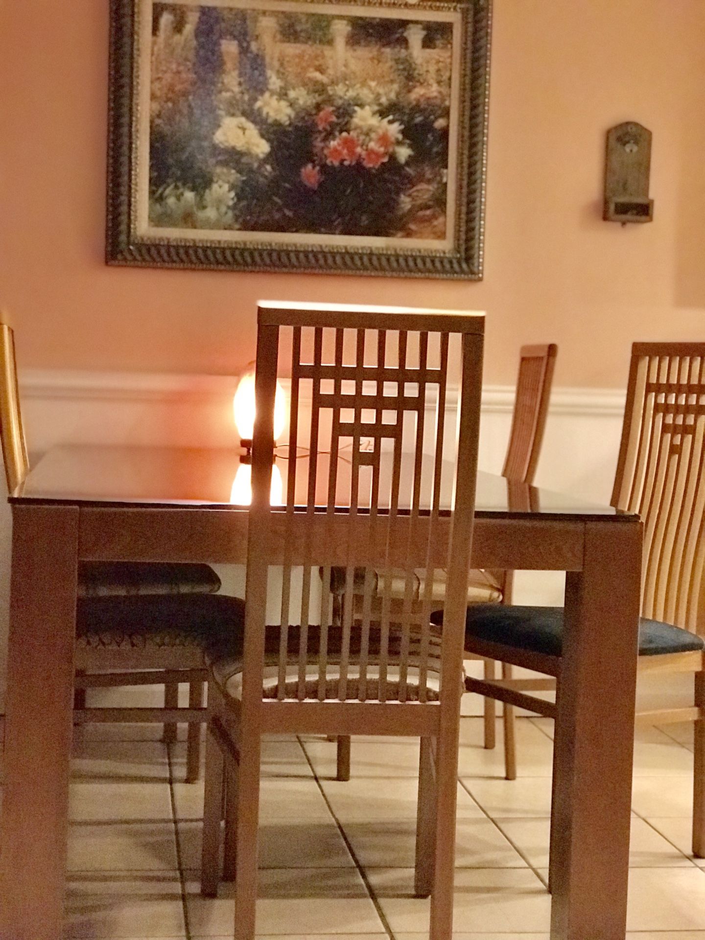
{"label": "narrow angled backrest of the chair behind table, against the wall", "polygon": [[519,351],[519,376],[503,477],[521,483],[534,482],[557,352],[555,343],[522,346]]}

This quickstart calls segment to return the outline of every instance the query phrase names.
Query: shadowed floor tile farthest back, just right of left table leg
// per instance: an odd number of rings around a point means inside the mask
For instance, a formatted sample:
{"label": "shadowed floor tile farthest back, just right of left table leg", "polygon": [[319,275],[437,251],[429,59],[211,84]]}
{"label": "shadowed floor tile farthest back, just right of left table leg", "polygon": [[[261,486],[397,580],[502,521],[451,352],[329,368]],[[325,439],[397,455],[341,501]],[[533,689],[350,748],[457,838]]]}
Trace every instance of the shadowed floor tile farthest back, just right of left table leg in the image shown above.
{"label": "shadowed floor tile farthest back, just right of left table leg", "polygon": [[74,748],[71,780],[96,779],[168,782],[166,745],[156,741],[86,741]]}

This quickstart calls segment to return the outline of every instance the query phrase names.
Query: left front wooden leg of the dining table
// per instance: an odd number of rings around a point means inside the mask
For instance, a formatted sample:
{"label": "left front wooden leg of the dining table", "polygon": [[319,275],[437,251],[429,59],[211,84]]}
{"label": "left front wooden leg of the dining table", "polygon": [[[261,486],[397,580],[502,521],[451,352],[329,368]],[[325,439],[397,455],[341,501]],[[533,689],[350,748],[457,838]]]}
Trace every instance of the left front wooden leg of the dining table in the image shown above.
{"label": "left front wooden leg of the dining table", "polygon": [[0,818],[0,937],[62,935],[78,509],[18,506]]}

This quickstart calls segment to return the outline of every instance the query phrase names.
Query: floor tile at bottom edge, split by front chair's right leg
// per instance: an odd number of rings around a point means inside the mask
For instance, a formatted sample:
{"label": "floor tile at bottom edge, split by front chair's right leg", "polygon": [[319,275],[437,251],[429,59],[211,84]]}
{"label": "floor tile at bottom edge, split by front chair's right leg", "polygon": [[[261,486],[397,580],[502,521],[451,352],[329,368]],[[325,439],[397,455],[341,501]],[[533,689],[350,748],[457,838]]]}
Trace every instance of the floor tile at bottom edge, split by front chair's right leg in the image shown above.
{"label": "floor tile at bottom edge, split by front chair's right leg", "polygon": [[[413,870],[373,869],[369,880],[395,933],[428,930],[430,901],[413,896]],[[529,869],[456,871],[454,931],[547,932],[550,917],[550,895]]]}

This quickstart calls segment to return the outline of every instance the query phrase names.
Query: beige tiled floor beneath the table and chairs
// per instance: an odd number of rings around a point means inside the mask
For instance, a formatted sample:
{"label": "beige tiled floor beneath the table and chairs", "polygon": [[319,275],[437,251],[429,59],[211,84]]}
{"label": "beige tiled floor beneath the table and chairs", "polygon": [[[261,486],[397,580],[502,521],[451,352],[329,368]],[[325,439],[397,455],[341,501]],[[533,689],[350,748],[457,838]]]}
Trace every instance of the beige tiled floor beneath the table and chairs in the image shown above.
{"label": "beige tiled floor beneath the table and chairs", "polygon": [[[481,747],[462,719],[455,940],[547,940],[552,724],[519,720],[520,779],[503,779],[501,728]],[[667,731],[667,733],[666,733]],[[198,893],[203,790],[182,783],[184,744],[147,726],[93,726],[71,783],[66,938],[231,936],[228,885]],[[630,938],[705,940],[705,861],[689,855],[688,727],[637,734]],[[353,741],[352,781],[335,745],[268,740],[261,800],[258,933],[279,940],[422,940],[413,896],[416,744]]]}

